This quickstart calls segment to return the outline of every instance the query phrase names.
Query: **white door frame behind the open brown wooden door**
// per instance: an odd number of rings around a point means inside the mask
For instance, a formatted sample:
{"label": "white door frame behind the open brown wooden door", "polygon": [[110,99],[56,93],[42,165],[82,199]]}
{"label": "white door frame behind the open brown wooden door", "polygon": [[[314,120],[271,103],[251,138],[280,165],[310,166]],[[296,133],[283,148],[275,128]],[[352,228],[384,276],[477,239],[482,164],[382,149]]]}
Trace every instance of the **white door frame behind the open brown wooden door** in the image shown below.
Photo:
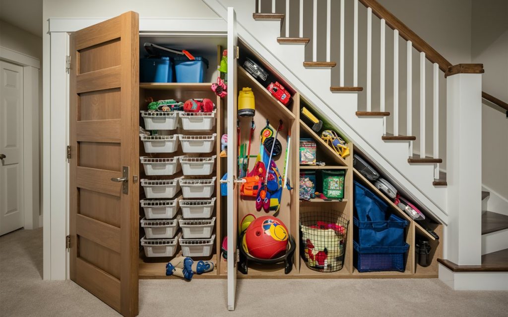
{"label": "white door frame behind the open brown wooden door", "polygon": [[[106,18],[48,19],[43,35],[43,278],[69,278],[69,164],[66,147],[69,140],[69,33],[107,20]],[[175,23],[178,20],[178,23]],[[139,30],[150,34],[185,36],[202,33],[225,36],[222,18],[148,18],[140,19]],[[46,32],[47,31],[47,32]],[[73,61],[71,61],[72,67]],[[53,123],[53,124],[52,124]]]}

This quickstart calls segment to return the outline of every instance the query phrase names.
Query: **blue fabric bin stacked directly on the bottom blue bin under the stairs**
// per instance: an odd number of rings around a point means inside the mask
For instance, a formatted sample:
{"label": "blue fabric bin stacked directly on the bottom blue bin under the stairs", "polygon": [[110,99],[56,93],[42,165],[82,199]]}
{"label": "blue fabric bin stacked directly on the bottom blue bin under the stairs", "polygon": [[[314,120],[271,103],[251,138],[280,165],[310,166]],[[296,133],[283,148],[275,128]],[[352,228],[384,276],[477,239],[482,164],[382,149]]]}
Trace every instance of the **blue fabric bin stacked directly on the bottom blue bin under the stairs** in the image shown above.
{"label": "blue fabric bin stacked directly on the bottom blue bin under the stairs", "polygon": [[353,218],[353,239],[361,247],[400,247],[408,222],[395,215],[387,221],[359,221]]}

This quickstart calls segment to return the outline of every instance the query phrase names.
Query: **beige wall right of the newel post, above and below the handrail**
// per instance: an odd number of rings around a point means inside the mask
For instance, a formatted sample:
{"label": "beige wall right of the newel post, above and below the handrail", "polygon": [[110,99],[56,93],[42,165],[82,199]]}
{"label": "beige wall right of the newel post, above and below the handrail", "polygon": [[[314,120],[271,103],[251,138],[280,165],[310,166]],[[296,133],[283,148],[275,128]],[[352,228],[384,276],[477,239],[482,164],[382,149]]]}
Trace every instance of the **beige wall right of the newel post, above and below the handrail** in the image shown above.
{"label": "beige wall right of the newel post, above and below the handrail", "polygon": [[[508,102],[508,1],[473,0],[471,62],[483,63],[483,90]],[[485,102],[482,175],[485,186],[508,198],[508,118]]]}

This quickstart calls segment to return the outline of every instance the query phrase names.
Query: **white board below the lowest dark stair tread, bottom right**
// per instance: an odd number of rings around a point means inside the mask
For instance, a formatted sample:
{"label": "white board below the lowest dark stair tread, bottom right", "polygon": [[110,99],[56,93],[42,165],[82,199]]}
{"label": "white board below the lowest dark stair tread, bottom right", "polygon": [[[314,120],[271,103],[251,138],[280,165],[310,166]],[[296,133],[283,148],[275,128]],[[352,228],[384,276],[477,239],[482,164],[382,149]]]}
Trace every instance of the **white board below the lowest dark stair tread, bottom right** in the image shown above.
{"label": "white board below the lowest dark stair tread, bottom right", "polygon": [[452,272],[439,264],[439,279],[455,291],[508,291],[508,272]]}

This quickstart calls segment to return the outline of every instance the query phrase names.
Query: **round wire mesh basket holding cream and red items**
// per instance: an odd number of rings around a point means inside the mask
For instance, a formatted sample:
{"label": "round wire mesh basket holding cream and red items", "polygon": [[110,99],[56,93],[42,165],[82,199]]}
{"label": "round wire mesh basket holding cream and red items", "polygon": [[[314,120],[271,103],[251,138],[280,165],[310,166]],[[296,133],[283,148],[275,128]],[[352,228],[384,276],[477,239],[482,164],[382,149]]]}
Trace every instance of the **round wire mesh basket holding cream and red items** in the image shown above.
{"label": "round wire mesh basket holding cream and red items", "polygon": [[336,272],[344,265],[349,220],[338,211],[315,211],[300,216],[302,257],[318,272]]}

